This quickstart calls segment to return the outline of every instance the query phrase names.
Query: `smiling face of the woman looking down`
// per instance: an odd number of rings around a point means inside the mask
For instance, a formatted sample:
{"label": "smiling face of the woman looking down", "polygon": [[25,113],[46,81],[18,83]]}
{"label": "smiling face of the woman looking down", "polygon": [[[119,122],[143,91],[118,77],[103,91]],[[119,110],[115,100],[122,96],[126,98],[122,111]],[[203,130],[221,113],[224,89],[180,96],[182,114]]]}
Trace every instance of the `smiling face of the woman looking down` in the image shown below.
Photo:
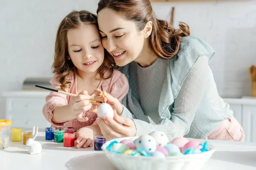
{"label": "smiling face of the woman looking down", "polygon": [[124,66],[136,60],[148,37],[144,29],[138,31],[133,21],[125,20],[109,8],[99,11],[98,23],[102,45],[117,65]]}

